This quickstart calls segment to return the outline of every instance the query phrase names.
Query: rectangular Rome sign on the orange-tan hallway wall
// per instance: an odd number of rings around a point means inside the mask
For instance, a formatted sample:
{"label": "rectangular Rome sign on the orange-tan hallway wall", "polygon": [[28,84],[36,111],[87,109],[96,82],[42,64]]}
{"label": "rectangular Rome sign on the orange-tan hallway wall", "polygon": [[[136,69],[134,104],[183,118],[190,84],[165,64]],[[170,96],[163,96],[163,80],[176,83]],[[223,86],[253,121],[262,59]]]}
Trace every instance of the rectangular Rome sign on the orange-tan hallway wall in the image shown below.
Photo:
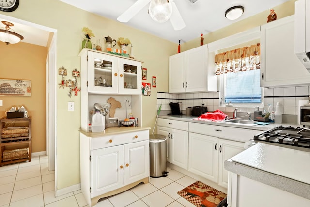
{"label": "rectangular Rome sign on the orange-tan hallway wall", "polygon": [[0,79],[0,96],[31,96],[31,80]]}

